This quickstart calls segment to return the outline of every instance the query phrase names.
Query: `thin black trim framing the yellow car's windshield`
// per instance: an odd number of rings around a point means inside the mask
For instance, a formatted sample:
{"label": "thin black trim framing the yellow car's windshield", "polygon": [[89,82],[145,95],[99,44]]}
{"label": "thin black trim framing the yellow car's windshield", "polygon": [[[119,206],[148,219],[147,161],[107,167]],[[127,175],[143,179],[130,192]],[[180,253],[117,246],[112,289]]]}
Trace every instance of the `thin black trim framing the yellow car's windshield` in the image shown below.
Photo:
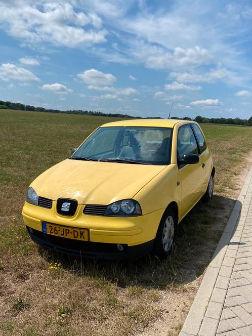
{"label": "thin black trim framing the yellow car's windshield", "polygon": [[[76,157],[74,157],[74,155],[77,153],[77,151],[80,149],[80,147],[86,142],[88,141],[88,139],[94,134],[96,133],[99,129],[108,129],[108,128],[127,128],[127,129],[135,129],[135,128],[144,128],[144,129],[170,129],[171,130],[171,141],[170,141],[170,150],[169,150],[169,157],[167,158],[167,161],[153,161],[152,163],[149,163],[148,165],[170,165],[171,164],[171,158],[172,158],[172,143],[173,143],[173,131],[174,128],[173,127],[159,127],[159,126],[128,126],[128,125],[111,125],[111,126],[100,126],[98,127],[96,130],[94,130],[81,144],[80,146],[77,148],[77,150],[72,154],[71,157],[69,157],[68,159],[77,159]],[[85,160],[86,159],[86,160]],[[96,160],[95,158],[85,158],[84,160],[86,162],[112,162],[112,163],[116,163],[115,161],[103,161],[103,160]],[[77,159],[78,160],[78,159]],[[80,159],[81,160],[81,159]],[[120,162],[121,164],[134,164],[133,162]],[[138,160],[138,164],[141,164],[141,160]],[[143,160],[142,164],[147,164],[147,162],[145,160]]]}

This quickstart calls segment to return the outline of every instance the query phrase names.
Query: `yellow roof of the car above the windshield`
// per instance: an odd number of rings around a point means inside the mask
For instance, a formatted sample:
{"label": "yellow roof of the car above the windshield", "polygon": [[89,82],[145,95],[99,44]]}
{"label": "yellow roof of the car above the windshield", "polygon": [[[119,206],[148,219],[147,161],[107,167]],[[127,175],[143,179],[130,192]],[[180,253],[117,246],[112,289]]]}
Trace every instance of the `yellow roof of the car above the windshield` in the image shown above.
{"label": "yellow roof of the car above the windshield", "polygon": [[115,127],[115,126],[146,126],[146,127],[170,127],[173,128],[178,122],[195,123],[189,120],[180,119],[125,119],[120,121],[104,123],[101,127]]}

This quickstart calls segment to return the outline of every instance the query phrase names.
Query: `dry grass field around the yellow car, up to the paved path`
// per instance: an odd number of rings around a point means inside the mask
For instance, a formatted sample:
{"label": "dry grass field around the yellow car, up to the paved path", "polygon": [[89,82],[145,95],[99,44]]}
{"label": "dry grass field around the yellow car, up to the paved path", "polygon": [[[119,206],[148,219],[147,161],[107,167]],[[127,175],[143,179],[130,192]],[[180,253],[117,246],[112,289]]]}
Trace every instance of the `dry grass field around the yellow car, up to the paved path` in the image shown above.
{"label": "dry grass field around the yellow car, up to the paved path", "polygon": [[252,128],[201,125],[213,152],[216,193],[182,221],[167,261],[81,262],[45,251],[30,240],[21,219],[29,183],[113,120],[118,118],[0,111],[1,335],[141,334],[162,318],[166,335],[178,334],[238,194]]}

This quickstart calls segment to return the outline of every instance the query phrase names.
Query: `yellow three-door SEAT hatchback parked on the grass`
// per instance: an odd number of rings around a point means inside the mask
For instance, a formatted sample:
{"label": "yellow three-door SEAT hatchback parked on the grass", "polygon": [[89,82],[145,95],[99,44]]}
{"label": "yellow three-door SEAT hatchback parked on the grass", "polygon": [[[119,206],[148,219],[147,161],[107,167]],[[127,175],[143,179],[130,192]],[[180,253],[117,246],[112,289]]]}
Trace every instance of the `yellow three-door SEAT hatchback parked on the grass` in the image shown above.
{"label": "yellow three-door SEAT hatchback parked on the grass", "polygon": [[23,220],[36,243],[64,253],[163,258],[177,224],[202,196],[212,198],[214,176],[194,121],[106,123],[31,183]]}

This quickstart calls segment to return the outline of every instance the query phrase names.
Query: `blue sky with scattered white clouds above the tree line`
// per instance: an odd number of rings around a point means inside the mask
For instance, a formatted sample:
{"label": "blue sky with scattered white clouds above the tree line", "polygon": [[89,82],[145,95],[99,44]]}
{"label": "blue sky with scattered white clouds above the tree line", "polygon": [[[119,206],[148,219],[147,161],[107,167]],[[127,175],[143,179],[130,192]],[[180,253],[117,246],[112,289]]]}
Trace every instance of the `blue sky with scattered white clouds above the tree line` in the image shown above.
{"label": "blue sky with scattered white clouds above the tree line", "polygon": [[0,99],[140,116],[252,115],[250,1],[0,0]]}

